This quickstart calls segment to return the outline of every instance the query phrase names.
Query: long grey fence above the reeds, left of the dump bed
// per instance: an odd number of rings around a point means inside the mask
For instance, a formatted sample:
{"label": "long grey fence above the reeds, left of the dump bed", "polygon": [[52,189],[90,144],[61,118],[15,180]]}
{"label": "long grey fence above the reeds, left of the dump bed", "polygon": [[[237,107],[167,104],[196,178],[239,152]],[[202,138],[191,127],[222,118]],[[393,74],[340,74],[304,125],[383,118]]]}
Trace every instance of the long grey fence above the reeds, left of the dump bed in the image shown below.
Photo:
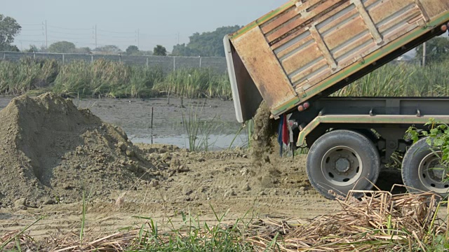
{"label": "long grey fence above the reeds, left of the dump bed", "polygon": [[132,56],[132,55],[95,55],[72,53],[45,53],[45,52],[0,52],[1,60],[18,62],[24,57],[32,59],[55,59],[62,64],[76,60],[94,62],[98,59],[106,59],[112,62],[138,66],[159,66],[163,71],[176,69],[210,68],[219,72],[227,71],[225,57],[173,57],[173,56]]}

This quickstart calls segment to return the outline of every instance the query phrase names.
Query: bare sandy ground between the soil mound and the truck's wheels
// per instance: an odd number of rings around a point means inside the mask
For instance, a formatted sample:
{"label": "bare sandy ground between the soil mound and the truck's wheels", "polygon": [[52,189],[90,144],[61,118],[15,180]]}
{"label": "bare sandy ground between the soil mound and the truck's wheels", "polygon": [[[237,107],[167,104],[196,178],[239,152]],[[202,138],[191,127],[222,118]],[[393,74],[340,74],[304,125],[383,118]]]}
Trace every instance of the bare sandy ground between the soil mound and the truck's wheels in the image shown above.
{"label": "bare sandy ground between the soil mound and the truck's wheels", "polygon": [[[175,173],[156,187],[128,188],[121,207],[116,207],[114,198],[118,198],[122,191],[115,192],[115,197],[109,200],[91,202],[86,216],[87,228],[95,234],[106,234],[145,223],[133,216],[151,217],[159,223],[172,218],[174,223],[179,223],[181,212],[213,222],[213,210],[220,214],[229,211],[227,221],[244,216],[282,220],[314,218],[338,207],[308,186],[304,157],[282,160],[276,166],[276,174],[254,178],[245,174],[246,169],[253,169],[246,154],[190,153],[182,156],[179,160],[188,164],[189,172]],[[81,209],[81,202],[29,207],[27,210],[3,208],[0,209],[0,229],[3,232],[21,230],[45,216],[29,229],[30,235],[43,238],[78,232]]]}

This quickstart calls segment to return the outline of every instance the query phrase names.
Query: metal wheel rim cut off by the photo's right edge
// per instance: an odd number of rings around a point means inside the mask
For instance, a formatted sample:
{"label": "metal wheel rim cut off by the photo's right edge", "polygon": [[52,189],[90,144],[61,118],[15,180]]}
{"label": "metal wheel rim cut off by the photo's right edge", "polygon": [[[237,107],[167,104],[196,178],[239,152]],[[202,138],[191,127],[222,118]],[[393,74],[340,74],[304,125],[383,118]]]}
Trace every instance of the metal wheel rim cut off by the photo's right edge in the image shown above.
{"label": "metal wheel rim cut off by the photo's right edge", "polygon": [[435,193],[448,193],[448,172],[441,166],[437,155],[429,153],[425,156],[420,162],[418,172],[425,188]]}

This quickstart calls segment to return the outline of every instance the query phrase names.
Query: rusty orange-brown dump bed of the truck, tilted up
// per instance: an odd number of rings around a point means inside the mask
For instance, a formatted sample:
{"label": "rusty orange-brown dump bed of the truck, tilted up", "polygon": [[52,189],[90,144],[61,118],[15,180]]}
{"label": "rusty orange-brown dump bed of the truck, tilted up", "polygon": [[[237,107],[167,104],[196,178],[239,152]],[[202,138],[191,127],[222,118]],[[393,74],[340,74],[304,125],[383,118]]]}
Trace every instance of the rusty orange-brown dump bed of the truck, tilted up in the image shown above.
{"label": "rusty orange-brown dump bed of the truck, tilted up", "polygon": [[448,0],[289,1],[225,37],[237,120],[262,99],[279,116],[335,92],[448,22]]}

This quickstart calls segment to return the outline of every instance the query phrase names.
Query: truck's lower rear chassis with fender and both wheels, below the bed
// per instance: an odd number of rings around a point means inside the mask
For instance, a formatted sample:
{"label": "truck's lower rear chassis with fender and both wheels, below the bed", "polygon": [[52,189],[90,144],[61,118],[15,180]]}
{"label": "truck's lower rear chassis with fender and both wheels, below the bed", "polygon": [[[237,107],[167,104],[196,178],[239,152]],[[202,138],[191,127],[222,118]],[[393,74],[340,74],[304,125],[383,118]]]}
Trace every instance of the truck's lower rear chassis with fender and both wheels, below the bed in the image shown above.
{"label": "truck's lower rear chassis with fender and both wheels, below the bed", "polygon": [[427,130],[431,118],[448,122],[448,104],[446,97],[328,97],[292,113],[289,124],[297,139],[294,146],[310,148],[311,184],[328,198],[344,195],[354,182],[361,184],[360,189],[370,189],[395,151],[406,153],[402,172],[406,186],[446,195],[449,182],[438,157],[429,146],[424,148],[425,141],[412,145],[405,136],[409,127]]}

